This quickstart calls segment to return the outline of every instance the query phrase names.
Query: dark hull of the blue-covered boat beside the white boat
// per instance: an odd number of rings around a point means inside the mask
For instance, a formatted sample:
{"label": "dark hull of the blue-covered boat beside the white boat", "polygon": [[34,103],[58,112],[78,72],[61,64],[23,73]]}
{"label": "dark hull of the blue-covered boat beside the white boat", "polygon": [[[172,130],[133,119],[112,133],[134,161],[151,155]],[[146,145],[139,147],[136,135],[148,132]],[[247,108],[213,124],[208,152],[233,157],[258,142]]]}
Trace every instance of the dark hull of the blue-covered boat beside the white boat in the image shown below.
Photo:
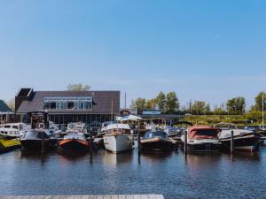
{"label": "dark hull of the blue-covered boat beside the white boat", "polygon": [[172,149],[172,142],[159,138],[142,140],[140,144],[142,150],[168,151]]}

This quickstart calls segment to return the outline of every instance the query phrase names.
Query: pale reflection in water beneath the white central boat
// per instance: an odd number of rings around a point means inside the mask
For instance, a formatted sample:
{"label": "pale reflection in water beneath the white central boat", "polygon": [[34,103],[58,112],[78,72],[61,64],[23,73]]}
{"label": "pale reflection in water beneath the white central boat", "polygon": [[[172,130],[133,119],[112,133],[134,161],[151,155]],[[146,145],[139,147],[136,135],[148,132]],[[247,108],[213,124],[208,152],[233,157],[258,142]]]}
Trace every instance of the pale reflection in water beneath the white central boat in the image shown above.
{"label": "pale reflection in water beneath the white central boat", "polygon": [[133,151],[129,150],[124,153],[112,153],[110,151],[105,151],[103,156],[103,163],[105,165],[121,165],[121,164],[129,164],[133,159]]}

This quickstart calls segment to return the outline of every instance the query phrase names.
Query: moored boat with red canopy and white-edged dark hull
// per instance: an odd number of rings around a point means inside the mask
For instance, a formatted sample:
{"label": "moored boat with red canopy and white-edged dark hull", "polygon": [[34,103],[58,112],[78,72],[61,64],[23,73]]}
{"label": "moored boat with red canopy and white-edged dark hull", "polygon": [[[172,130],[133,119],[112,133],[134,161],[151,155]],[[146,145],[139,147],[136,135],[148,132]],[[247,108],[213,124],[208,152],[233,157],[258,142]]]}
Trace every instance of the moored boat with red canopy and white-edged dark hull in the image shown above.
{"label": "moored boat with red canopy and white-edged dark hull", "polygon": [[218,140],[217,136],[220,131],[221,129],[210,126],[189,127],[187,134],[181,136],[182,146],[186,140],[189,152],[220,152],[222,142]]}

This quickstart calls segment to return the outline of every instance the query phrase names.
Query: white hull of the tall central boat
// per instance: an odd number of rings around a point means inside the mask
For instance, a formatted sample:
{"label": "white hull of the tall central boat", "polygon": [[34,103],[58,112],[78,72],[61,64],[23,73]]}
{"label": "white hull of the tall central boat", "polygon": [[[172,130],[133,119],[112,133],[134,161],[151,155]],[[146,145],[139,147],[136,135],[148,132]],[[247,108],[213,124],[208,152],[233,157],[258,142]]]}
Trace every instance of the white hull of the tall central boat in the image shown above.
{"label": "white hull of the tall central boat", "polygon": [[133,136],[129,134],[105,135],[104,142],[106,150],[113,153],[133,149]]}

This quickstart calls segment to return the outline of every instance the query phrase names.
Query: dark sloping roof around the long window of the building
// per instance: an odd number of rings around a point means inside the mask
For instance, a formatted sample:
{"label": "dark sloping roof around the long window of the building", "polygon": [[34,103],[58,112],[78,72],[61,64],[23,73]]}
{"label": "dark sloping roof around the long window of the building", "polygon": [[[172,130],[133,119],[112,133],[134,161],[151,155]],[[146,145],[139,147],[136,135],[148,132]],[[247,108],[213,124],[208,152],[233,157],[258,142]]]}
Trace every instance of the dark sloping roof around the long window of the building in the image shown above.
{"label": "dark sloping roof around the long window of the building", "polygon": [[24,100],[18,108],[18,113],[27,113],[30,111],[42,111],[44,97],[93,97],[92,111],[75,110],[49,110],[49,113],[83,113],[83,114],[118,114],[120,111],[120,91],[35,91],[33,98]]}

